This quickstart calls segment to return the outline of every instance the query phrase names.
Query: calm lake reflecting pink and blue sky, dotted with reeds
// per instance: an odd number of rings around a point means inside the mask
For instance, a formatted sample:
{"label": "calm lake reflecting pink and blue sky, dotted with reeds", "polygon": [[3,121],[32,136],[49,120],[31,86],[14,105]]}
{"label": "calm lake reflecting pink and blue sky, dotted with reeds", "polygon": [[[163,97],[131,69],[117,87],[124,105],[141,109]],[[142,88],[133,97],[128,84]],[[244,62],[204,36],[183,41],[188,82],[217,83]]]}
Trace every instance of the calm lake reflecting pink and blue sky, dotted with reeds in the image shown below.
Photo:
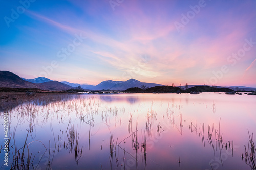
{"label": "calm lake reflecting pink and blue sky, dotted with reeds", "polygon": [[[0,168],[255,169],[255,104],[244,93],[48,95],[8,111]],[[4,148],[4,112],[0,125]]]}

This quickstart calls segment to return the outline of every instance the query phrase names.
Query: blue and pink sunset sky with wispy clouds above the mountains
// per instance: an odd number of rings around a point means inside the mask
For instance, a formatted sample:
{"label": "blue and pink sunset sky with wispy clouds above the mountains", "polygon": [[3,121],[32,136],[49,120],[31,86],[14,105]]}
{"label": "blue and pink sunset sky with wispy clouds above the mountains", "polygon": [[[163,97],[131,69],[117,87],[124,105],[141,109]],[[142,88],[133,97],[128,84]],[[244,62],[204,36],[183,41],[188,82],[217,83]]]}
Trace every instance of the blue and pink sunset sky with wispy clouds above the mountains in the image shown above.
{"label": "blue and pink sunset sky with wispy clouds above the mountains", "polygon": [[256,87],[256,1],[0,0],[0,70]]}

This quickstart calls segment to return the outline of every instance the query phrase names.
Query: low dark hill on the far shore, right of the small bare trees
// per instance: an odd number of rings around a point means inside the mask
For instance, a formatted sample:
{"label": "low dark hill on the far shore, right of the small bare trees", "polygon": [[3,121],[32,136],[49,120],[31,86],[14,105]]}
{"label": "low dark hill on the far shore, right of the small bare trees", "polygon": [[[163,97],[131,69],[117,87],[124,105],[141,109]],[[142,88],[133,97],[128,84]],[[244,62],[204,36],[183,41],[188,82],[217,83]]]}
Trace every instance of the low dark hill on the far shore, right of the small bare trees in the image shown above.
{"label": "low dark hill on the far shore, right of the small bare trees", "polygon": [[210,86],[195,86],[184,90],[184,92],[191,92],[191,91],[198,91],[198,92],[231,92],[230,88],[217,88],[217,87],[210,87]]}

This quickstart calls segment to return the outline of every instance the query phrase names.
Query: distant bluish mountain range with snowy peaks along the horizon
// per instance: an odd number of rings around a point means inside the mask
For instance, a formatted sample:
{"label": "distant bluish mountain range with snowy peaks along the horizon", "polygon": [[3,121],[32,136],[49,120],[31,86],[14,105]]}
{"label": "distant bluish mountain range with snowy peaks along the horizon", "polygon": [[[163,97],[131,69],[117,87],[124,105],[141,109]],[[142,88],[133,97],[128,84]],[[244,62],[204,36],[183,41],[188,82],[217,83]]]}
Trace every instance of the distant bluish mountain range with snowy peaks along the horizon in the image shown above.
{"label": "distant bluish mountain range with snowy peaks along the horizon", "polygon": [[[0,71],[0,87],[39,88],[41,90],[59,91],[59,90],[74,89],[75,87],[78,87],[78,86],[81,86],[85,90],[103,90],[103,89],[126,90],[132,87],[141,87],[142,85],[149,88],[155,87],[155,86],[163,86],[161,84],[156,84],[156,83],[140,82],[135,79],[129,79],[127,81],[106,80],[94,86],[89,84],[70,83],[67,81],[58,82],[45,77],[38,77],[35,79],[25,79],[25,78],[20,78],[18,75],[15,75],[9,71]],[[188,85],[188,88],[191,88],[194,86],[200,86],[200,85]],[[216,87],[221,88],[223,86],[216,86]],[[181,86],[181,88],[185,89],[185,86]],[[226,88],[230,88],[233,90],[238,88],[239,90],[246,90],[246,91],[256,90],[256,88],[245,87],[245,86],[230,86]]]}

